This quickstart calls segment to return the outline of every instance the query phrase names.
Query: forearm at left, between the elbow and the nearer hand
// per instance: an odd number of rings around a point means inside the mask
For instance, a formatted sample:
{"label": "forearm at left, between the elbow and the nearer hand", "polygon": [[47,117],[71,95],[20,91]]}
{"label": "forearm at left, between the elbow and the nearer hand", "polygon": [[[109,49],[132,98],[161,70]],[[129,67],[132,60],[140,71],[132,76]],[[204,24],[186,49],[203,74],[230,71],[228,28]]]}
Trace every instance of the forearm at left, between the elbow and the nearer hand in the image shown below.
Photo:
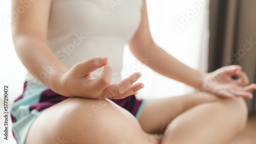
{"label": "forearm at left, between the elbow and the nearer hand", "polygon": [[20,35],[13,38],[16,53],[28,71],[39,81],[60,91],[60,76],[69,69],[50,50],[44,40]]}

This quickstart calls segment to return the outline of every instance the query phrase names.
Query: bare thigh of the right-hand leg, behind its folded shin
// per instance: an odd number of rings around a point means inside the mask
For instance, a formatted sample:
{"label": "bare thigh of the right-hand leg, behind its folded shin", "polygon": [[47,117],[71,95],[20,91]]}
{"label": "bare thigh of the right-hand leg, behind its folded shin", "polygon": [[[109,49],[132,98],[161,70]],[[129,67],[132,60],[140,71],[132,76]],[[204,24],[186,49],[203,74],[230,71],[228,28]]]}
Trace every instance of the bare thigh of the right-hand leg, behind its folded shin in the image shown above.
{"label": "bare thigh of the right-hand leg, behind its folded shin", "polygon": [[221,99],[216,95],[207,92],[195,92],[176,97],[147,100],[139,123],[147,133],[163,133],[169,123],[186,110],[202,103],[219,100]]}

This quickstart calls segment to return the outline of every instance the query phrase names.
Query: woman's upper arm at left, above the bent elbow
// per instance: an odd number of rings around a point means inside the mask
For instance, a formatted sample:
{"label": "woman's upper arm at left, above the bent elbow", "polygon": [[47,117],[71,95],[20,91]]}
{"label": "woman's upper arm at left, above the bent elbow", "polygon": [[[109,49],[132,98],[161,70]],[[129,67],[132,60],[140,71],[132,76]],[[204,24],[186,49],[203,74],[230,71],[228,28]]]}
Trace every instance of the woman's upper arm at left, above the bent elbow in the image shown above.
{"label": "woman's upper arm at left, above the bent elbow", "polygon": [[12,0],[12,36],[29,35],[46,41],[52,0]]}

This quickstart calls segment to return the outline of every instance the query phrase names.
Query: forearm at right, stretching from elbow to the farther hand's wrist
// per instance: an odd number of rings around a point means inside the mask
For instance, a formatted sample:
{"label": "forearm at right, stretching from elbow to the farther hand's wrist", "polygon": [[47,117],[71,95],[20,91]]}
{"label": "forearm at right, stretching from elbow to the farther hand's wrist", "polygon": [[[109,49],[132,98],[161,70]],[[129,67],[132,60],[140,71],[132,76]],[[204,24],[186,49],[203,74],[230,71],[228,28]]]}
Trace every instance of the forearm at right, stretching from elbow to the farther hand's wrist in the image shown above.
{"label": "forearm at right, stretching from elbow to the farther hand's wrist", "polygon": [[150,58],[151,60],[146,63],[144,61],[142,62],[163,76],[196,88],[200,87],[200,81],[204,73],[183,64],[173,56],[169,55],[155,43],[146,47],[145,49],[133,52],[133,54],[138,59],[140,59],[140,55],[146,55],[147,58]]}

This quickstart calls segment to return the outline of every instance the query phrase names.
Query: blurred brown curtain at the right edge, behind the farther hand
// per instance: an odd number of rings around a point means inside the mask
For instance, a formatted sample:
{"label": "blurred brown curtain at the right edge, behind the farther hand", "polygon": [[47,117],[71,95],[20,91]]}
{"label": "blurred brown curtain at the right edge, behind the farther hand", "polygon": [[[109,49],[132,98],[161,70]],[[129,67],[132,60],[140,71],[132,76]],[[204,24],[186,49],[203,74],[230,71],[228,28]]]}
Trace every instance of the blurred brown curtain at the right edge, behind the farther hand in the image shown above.
{"label": "blurred brown curtain at the right edge, behind the farther hand", "polygon": [[[255,6],[255,0],[210,1],[208,71],[238,64],[243,67],[250,83],[256,83]],[[255,114],[255,96],[246,101],[249,114]]]}

